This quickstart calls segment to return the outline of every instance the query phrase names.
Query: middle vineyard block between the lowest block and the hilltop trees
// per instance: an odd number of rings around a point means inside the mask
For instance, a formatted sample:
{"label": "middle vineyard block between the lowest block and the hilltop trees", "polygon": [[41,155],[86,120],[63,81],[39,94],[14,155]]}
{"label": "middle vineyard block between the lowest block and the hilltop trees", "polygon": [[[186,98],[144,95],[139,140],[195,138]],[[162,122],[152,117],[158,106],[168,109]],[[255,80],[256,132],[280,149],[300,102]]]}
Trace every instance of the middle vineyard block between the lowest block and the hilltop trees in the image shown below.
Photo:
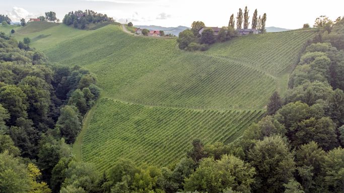
{"label": "middle vineyard block between the lowest block and the hilltop trees", "polygon": [[122,101],[192,109],[261,109],[276,79],[240,62],[185,53],[115,95]]}

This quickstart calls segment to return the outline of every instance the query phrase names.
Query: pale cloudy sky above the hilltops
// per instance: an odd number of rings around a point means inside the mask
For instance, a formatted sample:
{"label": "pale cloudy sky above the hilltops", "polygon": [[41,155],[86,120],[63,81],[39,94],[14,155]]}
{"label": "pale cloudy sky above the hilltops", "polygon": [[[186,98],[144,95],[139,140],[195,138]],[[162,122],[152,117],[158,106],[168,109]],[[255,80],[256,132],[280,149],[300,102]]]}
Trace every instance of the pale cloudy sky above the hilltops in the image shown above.
{"label": "pale cloudy sky above the hilltops", "polygon": [[249,10],[250,22],[255,9],[258,16],[266,13],[266,27],[298,29],[305,23],[312,26],[321,15],[331,20],[344,16],[344,2],[338,0],[12,0],[2,1],[0,14],[8,15],[16,22],[53,11],[62,20],[70,11],[89,9],[107,14],[121,23],[128,20],[134,25],[190,27],[193,21],[203,21],[209,27],[222,27],[228,26],[230,16],[236,16],[239,8],[245,6]]}

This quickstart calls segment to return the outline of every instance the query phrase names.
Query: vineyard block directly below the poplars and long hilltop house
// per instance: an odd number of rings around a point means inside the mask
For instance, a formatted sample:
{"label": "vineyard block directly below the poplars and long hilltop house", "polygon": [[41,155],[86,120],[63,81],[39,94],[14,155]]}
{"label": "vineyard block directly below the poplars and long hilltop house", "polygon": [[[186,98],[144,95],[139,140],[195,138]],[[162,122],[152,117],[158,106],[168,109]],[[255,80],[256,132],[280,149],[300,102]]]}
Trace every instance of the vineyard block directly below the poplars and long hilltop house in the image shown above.
{"label": "vineyard block directly below the poplars and long hilltop house", "polygon": [[248,35],[217,44],[205,53],[235,59],[278,76],[295,65],[302,47],[314,35],[312,30]]}

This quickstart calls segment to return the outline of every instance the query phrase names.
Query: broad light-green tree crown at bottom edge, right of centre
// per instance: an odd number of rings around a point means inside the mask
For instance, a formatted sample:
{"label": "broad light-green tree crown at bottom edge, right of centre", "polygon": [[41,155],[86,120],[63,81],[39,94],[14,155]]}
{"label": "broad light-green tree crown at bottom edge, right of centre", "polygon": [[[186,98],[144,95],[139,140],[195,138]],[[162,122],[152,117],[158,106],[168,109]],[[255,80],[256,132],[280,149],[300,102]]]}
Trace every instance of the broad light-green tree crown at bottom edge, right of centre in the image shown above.
{"label": "broad light-green tree crown at bottom edge, right of centre", "polygon": [[223,155],[218,161],[203,159],[194,173],[185,179],[187,191],[222,192],[231,187],[240,192],[250,192],[255,169],[233,155]]}

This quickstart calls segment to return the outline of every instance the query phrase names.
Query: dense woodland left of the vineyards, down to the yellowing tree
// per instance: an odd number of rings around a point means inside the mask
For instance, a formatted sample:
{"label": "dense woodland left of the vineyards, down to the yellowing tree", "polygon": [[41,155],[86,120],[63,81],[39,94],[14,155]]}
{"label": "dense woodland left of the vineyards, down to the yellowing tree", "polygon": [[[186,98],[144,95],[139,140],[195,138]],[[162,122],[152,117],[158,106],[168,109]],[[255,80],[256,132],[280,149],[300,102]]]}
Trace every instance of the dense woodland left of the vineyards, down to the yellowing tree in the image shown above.
{"label": "dense woodland left of the vineyards, down to the yellowing tree", "polygon": [[0,192],[51,192],[100,94],[89,71],[52,65],[29,44],[0,33]]}

